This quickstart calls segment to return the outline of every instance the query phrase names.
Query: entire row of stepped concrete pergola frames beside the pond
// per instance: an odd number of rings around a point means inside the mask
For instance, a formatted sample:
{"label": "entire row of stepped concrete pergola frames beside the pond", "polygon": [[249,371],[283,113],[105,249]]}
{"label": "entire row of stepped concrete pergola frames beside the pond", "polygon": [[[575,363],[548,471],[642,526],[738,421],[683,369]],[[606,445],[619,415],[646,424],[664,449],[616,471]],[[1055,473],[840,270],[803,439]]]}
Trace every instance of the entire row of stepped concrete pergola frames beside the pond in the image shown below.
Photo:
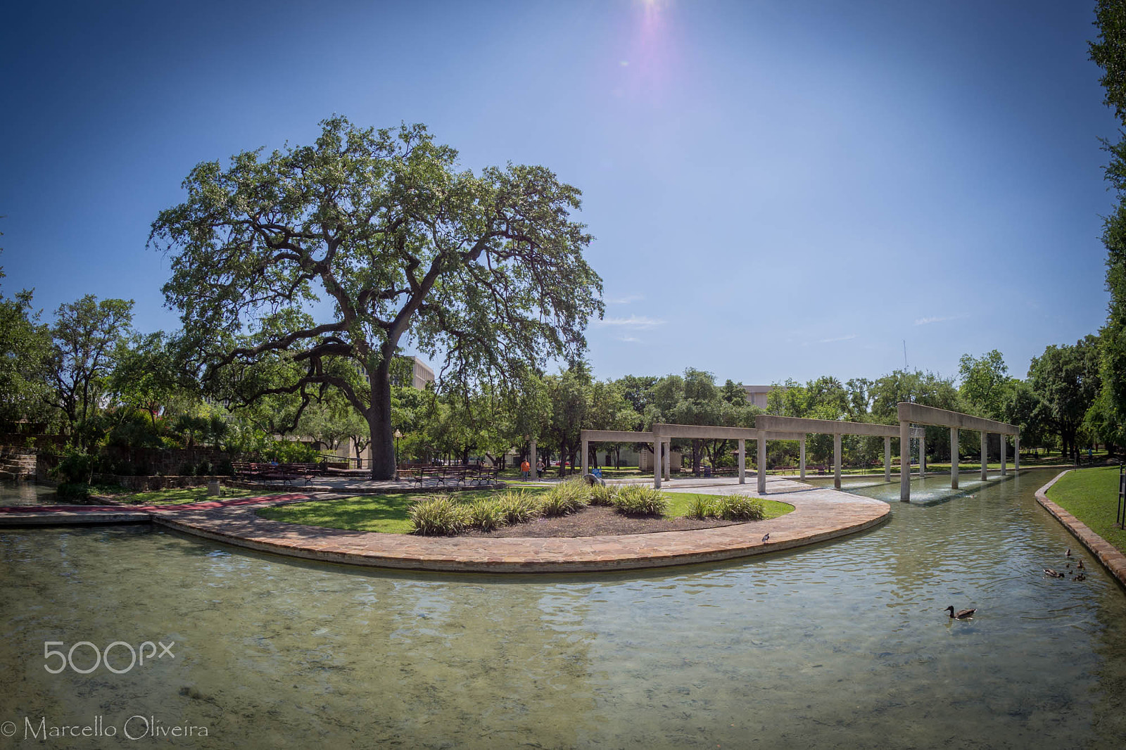
{"label": "entire row of stepped concrete pergola frames beside the pond", "polygon": [[[591,443],[647,443],[653,450],[653,486],[661,488],[661,479],[669,476],[669,453],[673,439],[735,440],[739,445],[739,483],[747,483],[747,440],[758,441],[758,492],[767,491],[767,441],[797,440],[799,443],[799,472],[805,479],[805,437],[810,434],[833,436],[833,486],[841,486],[841,437],[860,435],[884,438],[884,481],[892,481],[892,438],[900,439],[900,499],[911,499],[911,440],[919,440],[919,475],[927,471],[927,430],[915,425],[937,425],[950,428],[950,486],[958,486],[958,430],[977,430],[982,435],[982,480],[986,474],[985,439],[989,432],[1012,435],[1015,440],[1015,470],[1020,468],[1020,429],[992,419],[972,417],[956,411],[935,409],[915,403],[899,404],[899,426],[846,422],[831,419],[775,417],[759,414],[754,427],[709,427],[705,425],[653,425],[652,431],[582,430],[582,473],[590,470]],[[1006,445],[1001,440],[1001,474],[1006,471]]]}

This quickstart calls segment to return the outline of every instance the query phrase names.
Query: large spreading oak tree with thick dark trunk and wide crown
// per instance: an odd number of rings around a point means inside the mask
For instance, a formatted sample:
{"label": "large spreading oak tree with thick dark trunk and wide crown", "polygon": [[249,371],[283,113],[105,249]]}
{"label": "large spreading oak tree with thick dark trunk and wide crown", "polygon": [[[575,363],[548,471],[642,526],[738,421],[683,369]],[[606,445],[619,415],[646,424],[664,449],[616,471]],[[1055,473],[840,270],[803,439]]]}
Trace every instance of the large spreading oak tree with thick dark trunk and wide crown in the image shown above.
{"label": "large spreading oak tree with thick dark trunk and wide crown", "polygon": [[400,347],[440,355],[462,383],[574,359],[601,279],[571,220],[580,193],[549,170],[459,171],[422,125],[321,126],[314,145],[198,164],[150,244],[171,255],[164,295],[205,384],[235,404],[338,389],[385,479]]}

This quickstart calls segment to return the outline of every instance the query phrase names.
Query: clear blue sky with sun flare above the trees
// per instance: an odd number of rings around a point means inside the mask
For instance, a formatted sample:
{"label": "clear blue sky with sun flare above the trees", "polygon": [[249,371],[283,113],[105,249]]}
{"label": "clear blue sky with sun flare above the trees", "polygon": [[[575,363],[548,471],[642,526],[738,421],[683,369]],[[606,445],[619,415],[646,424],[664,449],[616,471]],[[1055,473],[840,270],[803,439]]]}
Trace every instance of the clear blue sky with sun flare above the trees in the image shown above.
{"label": "clear blue sky with sun flare above the trees", "polygon": [[1013,375],[1106,318],[1093,2],[12,3],[3,291],[171,330],[157,213],[339,113],[583,191],[598,377]]}

